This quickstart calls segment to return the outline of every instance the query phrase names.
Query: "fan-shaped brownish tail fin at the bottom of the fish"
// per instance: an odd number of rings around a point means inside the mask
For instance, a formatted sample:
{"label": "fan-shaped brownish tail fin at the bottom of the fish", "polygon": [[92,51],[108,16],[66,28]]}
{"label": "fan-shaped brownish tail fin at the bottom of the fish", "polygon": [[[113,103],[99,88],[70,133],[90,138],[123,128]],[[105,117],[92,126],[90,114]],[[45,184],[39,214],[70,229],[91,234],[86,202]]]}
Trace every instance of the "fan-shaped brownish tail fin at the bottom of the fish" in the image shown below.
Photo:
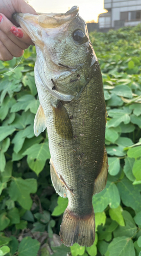
{"label": "fan-shaped brownish tail fin at the bottom of the fish", "polygon": [[95,241],[95,214],[79,217],[68,208],[64,211],[60,237],[65,246],[72,246],[78,243],[81,246],[89,247]]}

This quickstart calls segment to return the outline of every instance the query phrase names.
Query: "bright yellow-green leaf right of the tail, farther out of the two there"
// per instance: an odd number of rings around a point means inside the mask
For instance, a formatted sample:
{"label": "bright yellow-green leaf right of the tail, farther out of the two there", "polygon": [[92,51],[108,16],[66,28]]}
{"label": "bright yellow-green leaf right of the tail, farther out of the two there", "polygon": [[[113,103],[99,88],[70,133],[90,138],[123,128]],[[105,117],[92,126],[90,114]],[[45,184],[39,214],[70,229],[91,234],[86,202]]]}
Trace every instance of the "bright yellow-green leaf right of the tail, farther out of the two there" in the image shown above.
{"label": "bright yellow-green leaf right of the tail, farther out of the two there", "polygon": [[119,225],[125,226],[122,212],[123,212],[123,209],[121,205],[119,205],[117,208],[109,209],[109,216],[113,221],[116,221]]}

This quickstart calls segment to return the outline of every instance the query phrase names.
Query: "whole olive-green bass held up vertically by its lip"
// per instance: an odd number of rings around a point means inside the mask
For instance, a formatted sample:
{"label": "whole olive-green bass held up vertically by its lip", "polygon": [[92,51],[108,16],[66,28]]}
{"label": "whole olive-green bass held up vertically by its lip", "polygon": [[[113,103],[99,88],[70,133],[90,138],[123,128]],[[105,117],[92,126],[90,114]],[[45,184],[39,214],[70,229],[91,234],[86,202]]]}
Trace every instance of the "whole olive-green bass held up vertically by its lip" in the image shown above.
{"label": "whole olive-green bass held up vertically by its lip", "polygon": [[65,246],[89,247],[95,241],[92,197],[105,188],[108,160],[102,75],[87,25],[78,6],[66,13],[13,17],[36,47],[40,105],[34,133],[47,128],[52,183],[68,198],[60,238]]}

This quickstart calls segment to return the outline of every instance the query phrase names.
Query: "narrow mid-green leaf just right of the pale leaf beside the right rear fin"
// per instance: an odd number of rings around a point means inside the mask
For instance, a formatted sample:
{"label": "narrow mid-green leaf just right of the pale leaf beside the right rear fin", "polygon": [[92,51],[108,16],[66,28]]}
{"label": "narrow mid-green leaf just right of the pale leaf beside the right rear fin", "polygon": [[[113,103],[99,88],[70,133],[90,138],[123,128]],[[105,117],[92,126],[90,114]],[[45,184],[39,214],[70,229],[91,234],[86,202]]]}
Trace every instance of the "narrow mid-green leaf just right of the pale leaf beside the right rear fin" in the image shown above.
{"label": "narrow mid-green leaf just right of the pale leaf beside the right rear fin", "polygon": [[124,169],[123,169],[124,173],[130,181],[134,181],[135,177],[132,174],[132,168],[133,168],[133,164],[134,164],[135,159],[126,157],[124,159],[124,161],[125,161],[125,165],[124,165]]}

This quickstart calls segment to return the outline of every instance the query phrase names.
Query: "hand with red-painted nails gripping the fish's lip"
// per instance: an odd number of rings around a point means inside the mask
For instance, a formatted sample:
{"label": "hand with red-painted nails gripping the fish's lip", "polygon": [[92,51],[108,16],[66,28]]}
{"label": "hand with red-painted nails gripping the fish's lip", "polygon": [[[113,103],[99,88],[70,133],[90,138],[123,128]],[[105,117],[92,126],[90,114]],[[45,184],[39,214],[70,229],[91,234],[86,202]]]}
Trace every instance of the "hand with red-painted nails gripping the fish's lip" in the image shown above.
{"label": "hand with red-painted nails gripping the fish's lip", "polygon": [[34,45],[31,38],[12,18],[14,12],[37,14],[24,0],[0,0],[0,60],[20,57]]}

